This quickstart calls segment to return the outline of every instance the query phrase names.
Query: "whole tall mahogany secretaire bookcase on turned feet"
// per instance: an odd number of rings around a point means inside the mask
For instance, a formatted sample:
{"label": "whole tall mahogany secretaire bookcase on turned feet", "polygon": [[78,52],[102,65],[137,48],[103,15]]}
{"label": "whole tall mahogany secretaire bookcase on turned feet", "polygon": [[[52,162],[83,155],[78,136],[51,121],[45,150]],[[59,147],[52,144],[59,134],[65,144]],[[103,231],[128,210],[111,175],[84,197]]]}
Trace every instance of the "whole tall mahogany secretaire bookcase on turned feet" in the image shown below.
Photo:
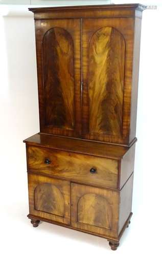
{"label": "whole tall mahogany secretaire bookcase on turned feet", "polygon": [[106,238],[130,223],[139,4],[34,12],[40,132],[26,139],[29,215]]}

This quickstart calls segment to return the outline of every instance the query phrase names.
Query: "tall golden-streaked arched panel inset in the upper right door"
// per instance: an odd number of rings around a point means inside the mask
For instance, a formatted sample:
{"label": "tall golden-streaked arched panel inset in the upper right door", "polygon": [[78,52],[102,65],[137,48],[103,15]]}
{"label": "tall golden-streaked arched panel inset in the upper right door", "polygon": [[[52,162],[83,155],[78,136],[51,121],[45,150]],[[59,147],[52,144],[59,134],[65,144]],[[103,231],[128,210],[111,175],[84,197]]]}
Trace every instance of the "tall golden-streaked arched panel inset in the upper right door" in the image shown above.
{"label": "tall golden-streaked arched panel inset in the upper right door", "polygon": [[111,27],[92,35],[89,45],[89,134],[122,136],[125,41]]}

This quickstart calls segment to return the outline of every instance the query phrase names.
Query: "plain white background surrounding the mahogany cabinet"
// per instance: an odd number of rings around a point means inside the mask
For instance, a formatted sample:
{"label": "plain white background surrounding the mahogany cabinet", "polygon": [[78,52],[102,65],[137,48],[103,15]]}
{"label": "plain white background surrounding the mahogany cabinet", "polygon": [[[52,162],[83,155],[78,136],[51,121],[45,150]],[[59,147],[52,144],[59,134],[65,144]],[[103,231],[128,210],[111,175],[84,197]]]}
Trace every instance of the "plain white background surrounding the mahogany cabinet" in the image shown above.
{"label": "plain white background surrounding the mahogany cabinet", "polygon": [[[36,53],[33,14],[28,11],[23,14],[20,7],[16,9],[20,16],[10,12],[12,16],[0,17],[0,212],[3,230],[0,253],[17,256],[31,252],[32,255],[63,255],[71,251],[72,255],[114,255],[115,252],[109,250],[104,239],[47,223],[34,229],[26,217],[29,211],[26,151],[22,140],[39,131]],[[7,15],[9,11],[1,9],[1,12]],[[160,255],[161,17],[160,5],[157,10],[143,13],[132,206],[134,216],[117,251],[122,256],[136,256],[139,252]]]}

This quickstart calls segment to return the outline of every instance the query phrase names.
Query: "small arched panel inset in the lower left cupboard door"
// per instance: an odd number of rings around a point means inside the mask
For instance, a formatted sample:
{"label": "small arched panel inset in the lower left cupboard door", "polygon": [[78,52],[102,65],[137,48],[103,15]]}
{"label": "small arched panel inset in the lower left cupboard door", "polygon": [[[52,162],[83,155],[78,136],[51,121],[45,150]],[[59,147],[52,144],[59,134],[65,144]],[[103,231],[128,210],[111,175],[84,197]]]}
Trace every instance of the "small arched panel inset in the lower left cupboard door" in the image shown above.
{"label": "small arched panel inset in the lower left cupboard door", "polygon": [[34,190],[35,209],[49,214],[64,216],[64,198],[53,184],[42,183]]}

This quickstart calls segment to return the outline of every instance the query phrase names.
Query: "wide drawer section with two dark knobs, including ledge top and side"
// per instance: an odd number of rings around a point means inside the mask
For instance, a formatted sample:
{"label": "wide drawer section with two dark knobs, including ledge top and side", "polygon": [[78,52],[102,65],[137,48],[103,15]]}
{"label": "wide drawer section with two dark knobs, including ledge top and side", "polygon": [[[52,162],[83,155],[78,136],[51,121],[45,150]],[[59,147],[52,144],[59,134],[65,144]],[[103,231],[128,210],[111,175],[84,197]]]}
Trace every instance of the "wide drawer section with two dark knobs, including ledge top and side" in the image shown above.
{"label": "wide drawer section with two dark knobs, including ledge top and side", "polygon": [[[134,170],[135,143],[122,147],[42,134],[25,142],[28,170],[37,174],[121,189]],[[93,167],[97,167],[94,175]]]}

